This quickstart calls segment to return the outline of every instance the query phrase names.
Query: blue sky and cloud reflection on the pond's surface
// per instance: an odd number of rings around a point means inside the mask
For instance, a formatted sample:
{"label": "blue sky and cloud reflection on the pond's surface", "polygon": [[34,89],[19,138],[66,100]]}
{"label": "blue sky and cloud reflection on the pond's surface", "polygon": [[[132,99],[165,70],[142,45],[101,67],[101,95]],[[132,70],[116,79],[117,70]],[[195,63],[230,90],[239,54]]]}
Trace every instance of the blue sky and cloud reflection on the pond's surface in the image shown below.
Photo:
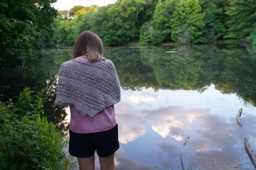
{"label": "blue sky and cloud reflection on the pond's surface", "polygon": [[[243,142],[249,138],[256,149],[255,108],[236,95],[222,94],[214,85],[203,92],[142,88],[121,93],[115,106],[122,150],[116,155],[122,160],[119,169],[126,169],[126,163],[136,164],[129,169],[181,169],[180,152],[188,136],[183,152],[186,167],[233,169],[250,163]],[[240,108],[242,128],[236,123]],[[254,169],[252,164],[242,167]]]}

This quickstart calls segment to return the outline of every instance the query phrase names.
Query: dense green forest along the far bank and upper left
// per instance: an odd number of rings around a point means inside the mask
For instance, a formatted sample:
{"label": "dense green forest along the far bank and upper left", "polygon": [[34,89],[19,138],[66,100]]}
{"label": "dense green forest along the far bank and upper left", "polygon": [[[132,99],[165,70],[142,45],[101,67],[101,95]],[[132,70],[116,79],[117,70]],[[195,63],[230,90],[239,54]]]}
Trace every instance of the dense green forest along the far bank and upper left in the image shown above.
{"label": "dense green forest along the far bank and upper left", "polygon": [[51,6],[55,1],[0,2],[1,66],[20,64],[42,48],[73,45],[84,30],[97,33],[105,45],[256,44],[254,0],[118,0],[63,11]]}

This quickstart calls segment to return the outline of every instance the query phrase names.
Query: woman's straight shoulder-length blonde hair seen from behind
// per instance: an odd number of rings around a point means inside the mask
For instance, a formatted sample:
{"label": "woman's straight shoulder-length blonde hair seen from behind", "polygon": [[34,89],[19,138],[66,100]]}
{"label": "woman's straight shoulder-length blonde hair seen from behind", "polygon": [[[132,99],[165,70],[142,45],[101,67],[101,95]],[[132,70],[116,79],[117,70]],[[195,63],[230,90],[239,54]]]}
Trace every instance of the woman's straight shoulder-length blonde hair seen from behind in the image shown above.
{"label": "woman's straight shoulder-length blonde hair seen from behind", "polygon": [[91,31],[83,31],[74,43],[73,59],[86,55],[91,62],[104,60],[103,49],[102,40],[97,34]]}

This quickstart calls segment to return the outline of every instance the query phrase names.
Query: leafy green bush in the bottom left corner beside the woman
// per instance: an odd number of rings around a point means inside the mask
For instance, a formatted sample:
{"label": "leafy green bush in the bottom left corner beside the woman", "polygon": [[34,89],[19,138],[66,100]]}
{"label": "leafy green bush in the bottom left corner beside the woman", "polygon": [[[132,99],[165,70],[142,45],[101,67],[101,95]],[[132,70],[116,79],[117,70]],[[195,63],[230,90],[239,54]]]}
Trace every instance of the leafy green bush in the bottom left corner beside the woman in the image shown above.
{"label": "leafy green bush in the bottom left corner beside the woman", "polygon": [[[20,108],[20,104],[0,102],[0,169],[68,169],[70,160],[63,147],[66,141],[52,123],[42,118],[42,99],[31,101],[28,88],[20,94],[18,101],[32,102]],[[29,108],[30,107],[30,108]],[[20,118],[20,110],[26,115]],[[30,110],[35,110],[30,115]]]}

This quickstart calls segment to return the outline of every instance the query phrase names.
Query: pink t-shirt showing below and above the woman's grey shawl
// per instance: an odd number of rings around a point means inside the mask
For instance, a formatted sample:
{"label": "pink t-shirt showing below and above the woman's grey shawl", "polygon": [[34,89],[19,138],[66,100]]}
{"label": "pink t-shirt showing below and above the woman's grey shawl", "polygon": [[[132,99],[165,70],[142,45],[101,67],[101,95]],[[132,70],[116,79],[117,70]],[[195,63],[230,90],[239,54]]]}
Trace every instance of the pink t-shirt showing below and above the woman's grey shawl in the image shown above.
{"label": "pink t-shirt showing below and above the woman's grey shawl", "polygon": [[[87,56],[79,56],[78,58],[84,58],[88,60]],[[70,107],[70,113],[70,130],[75,133],[96,133],[109,130],[116,126],[114,105],[108,106],[104,110],[98,112],[93,120],[89,120],[89,118],[83,117],[72,106]]]}

